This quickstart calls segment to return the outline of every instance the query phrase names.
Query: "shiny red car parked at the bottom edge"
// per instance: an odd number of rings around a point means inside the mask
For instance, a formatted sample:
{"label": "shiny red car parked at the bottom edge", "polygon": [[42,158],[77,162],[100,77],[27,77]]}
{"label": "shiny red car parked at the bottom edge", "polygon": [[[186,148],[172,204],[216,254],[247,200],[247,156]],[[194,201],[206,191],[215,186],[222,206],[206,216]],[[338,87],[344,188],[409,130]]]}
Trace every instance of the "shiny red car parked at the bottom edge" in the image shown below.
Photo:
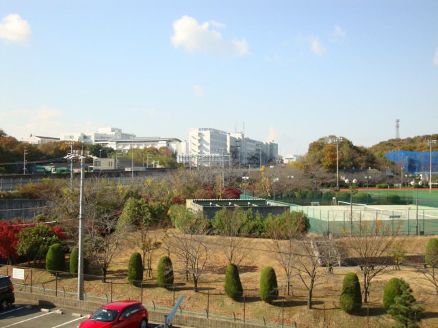
{"label": "shiny red car parked at the bottom edge", "polygon": [[146,328],[148,310],[138,301],[118,301],[103,305],[77,328]]}

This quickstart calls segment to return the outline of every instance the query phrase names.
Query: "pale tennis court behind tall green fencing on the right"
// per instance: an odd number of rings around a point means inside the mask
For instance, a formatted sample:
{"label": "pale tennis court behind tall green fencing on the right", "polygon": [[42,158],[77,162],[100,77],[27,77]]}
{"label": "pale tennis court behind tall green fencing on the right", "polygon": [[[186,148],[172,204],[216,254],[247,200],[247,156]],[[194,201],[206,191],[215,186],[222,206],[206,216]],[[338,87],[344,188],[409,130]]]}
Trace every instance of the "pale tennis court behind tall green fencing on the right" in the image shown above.
{"label": "pale tennis court behind tall green fencing on the right", "polygon": [[315,234],[352,234],[374,227],[376,223],[389,227],[385,230],[387,234],[438,234],[438,208],[428,206],[350,206],[348,202],[339,202],[336,206],[292,205],[291,210],[306,213],[311,232]]}

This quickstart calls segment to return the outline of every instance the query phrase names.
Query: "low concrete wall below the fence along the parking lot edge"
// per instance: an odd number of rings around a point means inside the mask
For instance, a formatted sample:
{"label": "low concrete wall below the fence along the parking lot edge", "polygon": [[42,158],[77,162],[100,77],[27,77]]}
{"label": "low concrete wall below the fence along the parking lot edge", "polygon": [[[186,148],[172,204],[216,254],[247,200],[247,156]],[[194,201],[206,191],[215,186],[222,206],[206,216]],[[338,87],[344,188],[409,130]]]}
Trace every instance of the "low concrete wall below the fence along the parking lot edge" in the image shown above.
{"label": "low concrete wall below the fence along the parking lot edge", "polygon": [[[78,310],[83,314],[90,314],[96,311],[105,301],[90,302],[78,301],[77,299],[64,299],[64,297],[54,297],[50,295],[30,294],[29,292],[15,292],[16,303],[39,303],[40,305],[56,306],[57,308],[70,308]],[[153,311],[148,308],[149,321],[152,323],[164,323],[164,314],[168,312]],[[198,318],[185,314],[175,314],[172,320],[174,325],[182,325],[193,328],[259,328],[261,325],[248,323],[234,323],[233,321],[217,320],[214,318]]]}

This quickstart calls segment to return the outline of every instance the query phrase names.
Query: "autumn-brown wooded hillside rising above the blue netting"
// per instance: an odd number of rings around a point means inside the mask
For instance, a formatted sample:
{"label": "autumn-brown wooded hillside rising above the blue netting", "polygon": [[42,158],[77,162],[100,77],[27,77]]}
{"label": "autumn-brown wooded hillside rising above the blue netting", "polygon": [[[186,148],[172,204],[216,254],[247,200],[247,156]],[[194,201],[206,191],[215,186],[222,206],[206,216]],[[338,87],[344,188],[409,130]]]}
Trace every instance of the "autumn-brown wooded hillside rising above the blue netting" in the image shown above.
{"label": "autumn-brown wooded hillside rising above the blue netting", "polygon": [[[427,141],[428,139],[438,140],[438,134],[434,135],[417,135],[416,137],[408,137],[405,139],[389,139],[381,141],[374,146],[368,148],[372,153],[385,153],[393,150],[408,150],[410,152],[427,152],[430,150]],[[432,150],[438,150],[438,141]]]}

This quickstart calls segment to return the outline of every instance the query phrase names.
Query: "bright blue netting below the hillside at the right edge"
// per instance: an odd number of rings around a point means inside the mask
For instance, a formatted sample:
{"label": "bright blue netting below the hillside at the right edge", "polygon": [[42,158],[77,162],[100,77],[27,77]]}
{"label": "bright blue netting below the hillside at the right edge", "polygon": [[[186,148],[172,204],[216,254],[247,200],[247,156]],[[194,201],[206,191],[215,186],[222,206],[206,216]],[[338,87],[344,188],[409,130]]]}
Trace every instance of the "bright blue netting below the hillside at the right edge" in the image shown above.
{"label": "bright blue netting below the hillside at the right edge", "polygon": [[[385,152],[385,157],[404,167],[404,170],[411,174],[429,173],[430,152],[408,152],[407,150],[396,150]],[[432,172],[438,173],[438,152],[432,152]]]}

